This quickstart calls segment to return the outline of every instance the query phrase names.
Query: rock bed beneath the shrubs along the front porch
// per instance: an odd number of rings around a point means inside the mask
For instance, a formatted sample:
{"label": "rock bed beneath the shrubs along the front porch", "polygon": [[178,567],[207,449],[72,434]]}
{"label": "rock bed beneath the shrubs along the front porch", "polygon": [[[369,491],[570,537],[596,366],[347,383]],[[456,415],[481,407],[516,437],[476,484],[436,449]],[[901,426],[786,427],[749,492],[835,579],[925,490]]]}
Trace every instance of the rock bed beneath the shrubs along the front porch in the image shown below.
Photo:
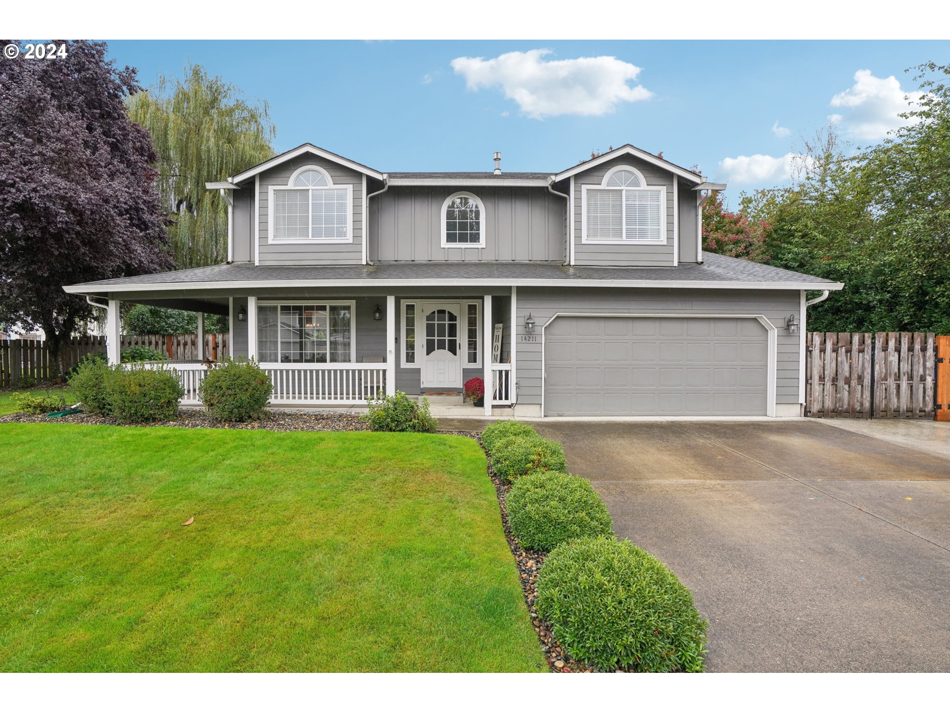
{"label": "rock bed beneath the shrubs along the front porch", "polygon": [[[93,414],[72,414],[61,418],[46,415],[7,414],[0,416],[0,423],[81,423],[85,425],[123,426],[112,418]],[[264,418],[247,423],[224,423],[199,409],[179,409],[175,418],[167,421],[137,424],[136,428],[149,426],[173,426],[186,429],[244,429],[260,431],[369,431],[370,427],[352,412],[302,412],[269,410]]]}

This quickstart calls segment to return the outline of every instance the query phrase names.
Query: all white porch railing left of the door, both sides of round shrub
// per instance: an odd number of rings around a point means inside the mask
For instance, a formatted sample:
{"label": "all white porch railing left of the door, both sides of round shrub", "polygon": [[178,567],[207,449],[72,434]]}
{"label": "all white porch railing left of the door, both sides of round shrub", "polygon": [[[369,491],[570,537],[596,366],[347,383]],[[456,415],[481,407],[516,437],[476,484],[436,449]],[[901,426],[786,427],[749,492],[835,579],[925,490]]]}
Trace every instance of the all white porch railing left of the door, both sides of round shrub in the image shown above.
{"label": "all white porch railing left of the door, both sides of round shrub", "polygon": [[[125,366],[171,369],[184,389],[181,404],[201,404],[199,386],[208,373],[204,364],[145,361]],[[361,404],[386,390],[386,364],[260,364],[260,368],[271,377],[271,403],[276,406]]]}

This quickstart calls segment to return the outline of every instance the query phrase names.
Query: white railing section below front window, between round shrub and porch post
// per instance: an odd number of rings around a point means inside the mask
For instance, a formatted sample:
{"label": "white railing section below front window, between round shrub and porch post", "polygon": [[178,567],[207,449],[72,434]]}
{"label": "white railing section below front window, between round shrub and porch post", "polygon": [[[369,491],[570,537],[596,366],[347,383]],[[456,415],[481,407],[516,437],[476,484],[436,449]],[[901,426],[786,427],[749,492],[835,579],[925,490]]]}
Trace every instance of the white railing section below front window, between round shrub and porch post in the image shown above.
{"label": "white railing section below front window, between round shrub and porch post", "polygon": [[386,364],[261,364],[277,405],[365,403],[386,389]]}

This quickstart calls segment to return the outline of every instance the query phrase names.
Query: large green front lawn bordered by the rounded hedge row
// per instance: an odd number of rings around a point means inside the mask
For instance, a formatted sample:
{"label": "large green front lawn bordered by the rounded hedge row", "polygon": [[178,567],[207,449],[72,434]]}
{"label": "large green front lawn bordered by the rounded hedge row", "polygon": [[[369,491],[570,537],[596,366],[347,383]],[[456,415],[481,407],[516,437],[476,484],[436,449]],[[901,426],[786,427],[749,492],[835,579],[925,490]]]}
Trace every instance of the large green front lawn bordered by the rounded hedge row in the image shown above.
{"label": "large green front lawn bordered by the rounded hedge row", "polygon": [[472,440],[0,424],[0,443],[0,670],[546,668]]}

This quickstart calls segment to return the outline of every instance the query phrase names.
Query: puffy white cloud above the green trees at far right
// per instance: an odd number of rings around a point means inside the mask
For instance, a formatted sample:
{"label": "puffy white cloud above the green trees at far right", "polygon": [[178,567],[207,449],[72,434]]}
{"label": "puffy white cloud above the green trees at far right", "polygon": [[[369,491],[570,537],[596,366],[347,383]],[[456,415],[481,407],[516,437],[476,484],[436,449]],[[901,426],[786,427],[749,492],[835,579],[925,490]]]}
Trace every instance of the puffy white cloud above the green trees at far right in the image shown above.
{"label": "puffy white cloud above the green trees at far right", "polygon": [[870,69],[859,69],[854,73],[854,86],[831,97],[831,106],[843,111],[828,116],[828,122],[840,125],[855,139],[880,141],[888,131],[906,124],[898,114],[908,108],[907,95],[914,101],[921,98],[919,92],[904,91],[893,75],[875,77]]}

